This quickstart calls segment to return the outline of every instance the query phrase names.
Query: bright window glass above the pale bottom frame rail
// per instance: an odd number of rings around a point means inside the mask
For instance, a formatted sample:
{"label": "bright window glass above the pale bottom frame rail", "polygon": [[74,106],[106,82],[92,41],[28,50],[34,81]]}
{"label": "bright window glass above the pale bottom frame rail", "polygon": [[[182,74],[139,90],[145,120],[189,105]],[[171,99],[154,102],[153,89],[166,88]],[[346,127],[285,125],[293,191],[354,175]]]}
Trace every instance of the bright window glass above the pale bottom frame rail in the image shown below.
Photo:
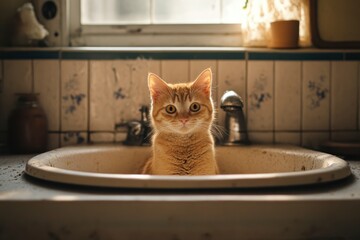
{"label": "bright window glass above the pale bottom frame rail", "polygon": [[81,24],[239,24],[242,0],[81,0]]}

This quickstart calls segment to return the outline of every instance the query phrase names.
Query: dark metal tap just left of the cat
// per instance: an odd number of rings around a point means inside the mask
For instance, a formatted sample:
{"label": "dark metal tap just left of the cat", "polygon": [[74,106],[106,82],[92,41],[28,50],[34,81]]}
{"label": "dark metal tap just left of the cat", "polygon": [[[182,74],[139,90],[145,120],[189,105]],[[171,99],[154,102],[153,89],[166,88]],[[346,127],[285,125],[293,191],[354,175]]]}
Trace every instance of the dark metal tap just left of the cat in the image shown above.
{"label": "dark metal tap just left of the cat", "polygon": [[127,124],[128,131],[125,145],[149,145],[151,139],[151,127],[149,121],[149,108],[147,106],[141,106],[139,109],[141,113],[140,121],[130,121]]}

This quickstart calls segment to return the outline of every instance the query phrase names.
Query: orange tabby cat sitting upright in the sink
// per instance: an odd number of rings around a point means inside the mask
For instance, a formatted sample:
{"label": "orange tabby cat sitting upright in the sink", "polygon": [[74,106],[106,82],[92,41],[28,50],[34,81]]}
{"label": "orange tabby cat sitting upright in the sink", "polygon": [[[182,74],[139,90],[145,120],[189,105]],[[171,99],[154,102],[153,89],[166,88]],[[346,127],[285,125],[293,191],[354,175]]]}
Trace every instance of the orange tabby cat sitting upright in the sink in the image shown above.
{"label": "orange tabby cat sitting upright in the sink", "polygon": [[149,73],[153,156],[142,173],[218,173],[210,132],[214,120],[211,81],[210,68],[205,69],[194,82],[179,84],[167,84],[159,76]]}

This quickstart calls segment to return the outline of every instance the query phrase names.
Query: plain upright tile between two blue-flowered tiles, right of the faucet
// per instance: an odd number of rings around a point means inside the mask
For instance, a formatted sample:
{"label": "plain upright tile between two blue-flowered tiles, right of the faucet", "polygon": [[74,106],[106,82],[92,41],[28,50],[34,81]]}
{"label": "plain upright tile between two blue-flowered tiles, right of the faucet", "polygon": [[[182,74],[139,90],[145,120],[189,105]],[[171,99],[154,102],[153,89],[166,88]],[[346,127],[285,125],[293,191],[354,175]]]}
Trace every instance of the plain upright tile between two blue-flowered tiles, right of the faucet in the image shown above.
{"label": "plain upright tile between two blue-flowered tiles, right of the faucet", "polygon": [[301,62],[275,62],[275,130],[300,130]]}

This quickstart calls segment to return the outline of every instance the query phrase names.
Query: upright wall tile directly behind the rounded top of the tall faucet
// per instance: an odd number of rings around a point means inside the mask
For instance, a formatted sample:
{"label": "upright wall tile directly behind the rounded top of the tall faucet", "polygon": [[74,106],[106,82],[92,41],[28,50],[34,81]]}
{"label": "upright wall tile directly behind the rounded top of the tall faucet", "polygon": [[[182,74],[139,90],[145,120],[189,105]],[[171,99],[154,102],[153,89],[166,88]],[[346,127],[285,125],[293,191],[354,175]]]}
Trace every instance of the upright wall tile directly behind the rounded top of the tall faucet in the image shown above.
{"label": "upright wall tile directly behind the rounded top of the tall faucet", "polygon": [[220,126],[224,126],[225,112],[220,108],[220,100],[227,90],[233,90],[244,101],[244,112],[246,114],[246,64],[242,60],[219,60],[218,61],[218,115],[217,120]]}

